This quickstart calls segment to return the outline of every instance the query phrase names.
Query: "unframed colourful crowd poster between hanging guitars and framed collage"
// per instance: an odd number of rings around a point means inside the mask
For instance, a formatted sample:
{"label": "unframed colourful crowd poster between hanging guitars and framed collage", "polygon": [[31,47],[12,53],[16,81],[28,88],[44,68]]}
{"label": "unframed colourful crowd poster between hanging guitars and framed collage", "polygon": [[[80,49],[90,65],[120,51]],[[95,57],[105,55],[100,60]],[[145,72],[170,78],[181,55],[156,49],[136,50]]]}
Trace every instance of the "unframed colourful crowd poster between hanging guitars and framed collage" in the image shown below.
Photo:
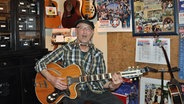
{"label": "unframed colourful crowd poster between hanging guitars and framed collage", "polygon": [[97,0],[97,31],[132,31],[131,11],[131,0]]}

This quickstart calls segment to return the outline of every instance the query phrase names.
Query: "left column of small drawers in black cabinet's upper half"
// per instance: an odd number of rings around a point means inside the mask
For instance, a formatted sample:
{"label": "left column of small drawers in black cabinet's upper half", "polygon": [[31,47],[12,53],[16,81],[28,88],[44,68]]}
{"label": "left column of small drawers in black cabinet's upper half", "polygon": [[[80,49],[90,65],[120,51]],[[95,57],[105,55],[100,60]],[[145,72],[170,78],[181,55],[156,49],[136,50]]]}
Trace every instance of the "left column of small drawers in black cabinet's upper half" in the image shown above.
{"label": "left column of small drawers in black cabinet's upper half", "polygon": [[10,0],[0,0],[0,50],[12,49],[13,7]]}

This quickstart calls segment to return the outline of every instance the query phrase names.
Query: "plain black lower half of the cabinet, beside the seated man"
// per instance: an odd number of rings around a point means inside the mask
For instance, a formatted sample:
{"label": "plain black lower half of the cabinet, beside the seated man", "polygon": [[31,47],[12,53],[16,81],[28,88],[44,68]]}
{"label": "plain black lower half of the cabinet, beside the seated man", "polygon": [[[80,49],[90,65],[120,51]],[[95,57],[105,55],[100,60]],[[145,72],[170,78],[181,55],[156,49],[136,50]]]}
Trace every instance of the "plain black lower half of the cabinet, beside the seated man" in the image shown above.
{"label": "plain black lower half of the cabinet, beside the seated man", "polygon": [[47,49],[42,49],[0,55],[0,103],[39,104],[34,89],[34,66],[47,53]]}

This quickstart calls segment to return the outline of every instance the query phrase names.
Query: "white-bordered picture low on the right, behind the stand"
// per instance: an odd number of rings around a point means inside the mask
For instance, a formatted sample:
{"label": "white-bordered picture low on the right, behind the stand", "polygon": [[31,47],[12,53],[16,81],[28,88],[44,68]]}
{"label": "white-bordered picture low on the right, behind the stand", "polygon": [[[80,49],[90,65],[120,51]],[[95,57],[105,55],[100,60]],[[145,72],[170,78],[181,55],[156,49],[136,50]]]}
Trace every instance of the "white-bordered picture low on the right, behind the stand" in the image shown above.
{"label": "white-bordered picture low on the right, behind the stand", "polygon": [[[168,80],[164,80],[164,104],[171,104],[167,82]],[[141,77],[139,104],[161,104],[161,91],[161,79]]]}

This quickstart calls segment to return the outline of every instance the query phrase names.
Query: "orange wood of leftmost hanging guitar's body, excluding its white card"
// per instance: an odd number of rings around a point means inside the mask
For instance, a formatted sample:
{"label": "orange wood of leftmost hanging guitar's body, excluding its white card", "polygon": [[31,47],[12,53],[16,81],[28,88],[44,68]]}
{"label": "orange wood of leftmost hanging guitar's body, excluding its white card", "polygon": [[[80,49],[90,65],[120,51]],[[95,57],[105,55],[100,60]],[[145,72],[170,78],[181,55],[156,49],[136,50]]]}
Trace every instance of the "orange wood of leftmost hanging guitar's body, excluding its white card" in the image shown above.
{"label": "orange wood of leftmost hanging guitar's body, excluding its white card", "polygon": [[[49,7],[49,6],[54,6],[56,7],[56,11],[57,11],[57,3],[55,1],[51,1],[51,0],[45,0],[45,7]],[[46,15],[45,13],[45,27],[46,28],[58,28],[61,25],[61,18],[60,16],[57,15]]]}

